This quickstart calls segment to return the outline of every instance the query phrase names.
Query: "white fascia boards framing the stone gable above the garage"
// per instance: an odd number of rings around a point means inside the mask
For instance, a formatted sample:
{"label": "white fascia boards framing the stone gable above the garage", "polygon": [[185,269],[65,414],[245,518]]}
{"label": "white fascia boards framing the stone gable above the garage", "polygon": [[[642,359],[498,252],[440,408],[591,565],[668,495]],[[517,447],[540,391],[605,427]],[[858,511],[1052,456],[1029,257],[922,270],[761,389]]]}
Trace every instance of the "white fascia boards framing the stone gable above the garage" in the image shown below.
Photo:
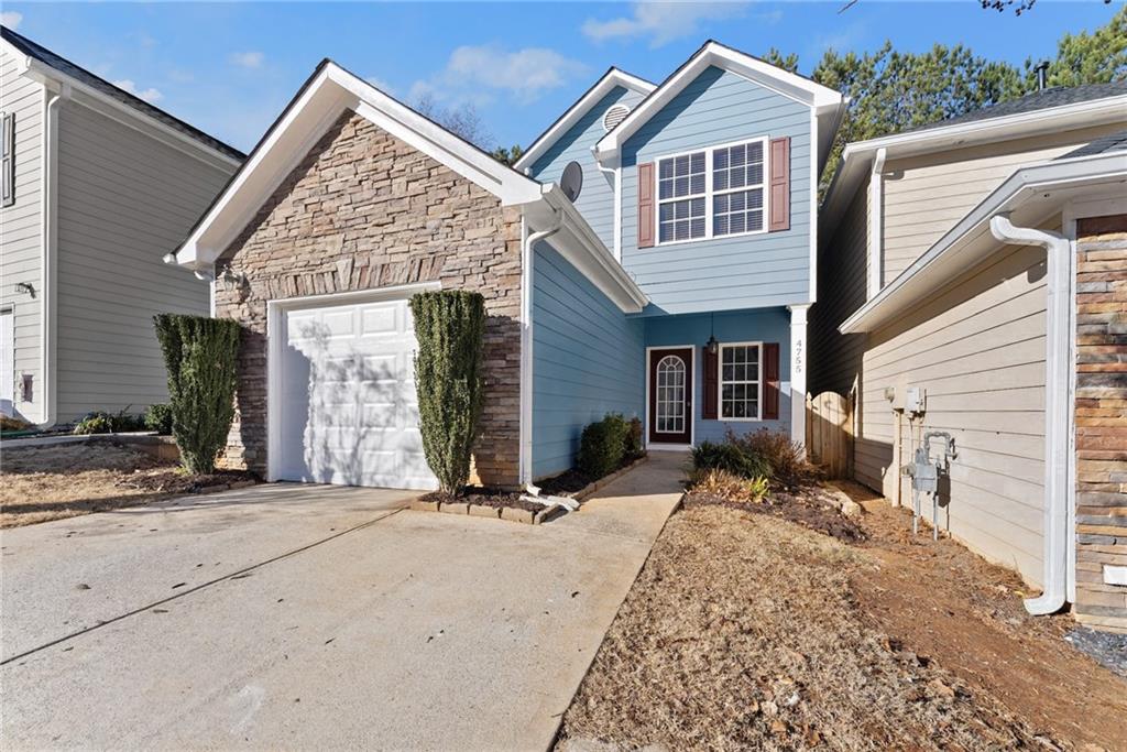
{"label": "white fascia boards framing the stone gable above the garage", "polygon": [[346,109],[490,192],[502,205],[540,200],[541,185],[535,180],[327,62],[188,236],[176,254],[177,263],[193,268],[213,263]]}

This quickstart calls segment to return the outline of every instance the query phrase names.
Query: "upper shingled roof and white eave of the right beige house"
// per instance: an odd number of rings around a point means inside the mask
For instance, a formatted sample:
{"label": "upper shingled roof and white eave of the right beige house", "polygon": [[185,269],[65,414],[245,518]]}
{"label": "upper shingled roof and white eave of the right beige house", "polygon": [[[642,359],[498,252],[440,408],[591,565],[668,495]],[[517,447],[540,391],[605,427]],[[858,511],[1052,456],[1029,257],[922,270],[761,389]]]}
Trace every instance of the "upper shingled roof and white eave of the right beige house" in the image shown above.
{"label": "upper shingled roof and white eave of the right beige house", "polygon": [[1127,121],[1127,82],[1054,88],[911,131],[854,141],[822,203],[823,227],[835,227],[878,152],[888,159]]}

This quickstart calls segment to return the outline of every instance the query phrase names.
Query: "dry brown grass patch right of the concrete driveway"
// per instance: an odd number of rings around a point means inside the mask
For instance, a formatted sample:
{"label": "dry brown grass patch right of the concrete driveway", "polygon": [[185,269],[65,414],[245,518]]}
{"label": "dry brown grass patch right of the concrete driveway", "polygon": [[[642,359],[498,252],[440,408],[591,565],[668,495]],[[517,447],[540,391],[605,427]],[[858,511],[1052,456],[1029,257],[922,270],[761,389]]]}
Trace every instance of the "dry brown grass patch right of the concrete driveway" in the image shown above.
{"label": "dry brown grass patch right of the concrete driveway", "polygon": [[868,545],[773,516],[722,506],[676,514],[565,716],[561,746],[1072,745],[949,671],[943,655],[888,634],[852,585],[878,567]]}

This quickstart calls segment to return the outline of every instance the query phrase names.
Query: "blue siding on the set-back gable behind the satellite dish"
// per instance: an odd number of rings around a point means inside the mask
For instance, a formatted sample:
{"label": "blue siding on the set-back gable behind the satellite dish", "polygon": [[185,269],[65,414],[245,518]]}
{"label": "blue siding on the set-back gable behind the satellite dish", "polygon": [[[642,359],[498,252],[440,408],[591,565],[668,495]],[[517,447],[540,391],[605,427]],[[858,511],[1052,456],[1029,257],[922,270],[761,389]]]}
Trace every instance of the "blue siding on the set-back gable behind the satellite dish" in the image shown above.
{"label": "blue siding on the set-back gable behind the satellite dish", "polygon": [[573,160],[583,166],[583,191],[575,206],[611,250],[614,249],[614,180],[595,166],[591,148],[606,135],[603,115],[611,105],[633,107],[641,98],[632,89],[614,87],[532,165],[532,177],[545,183],[559,180]]}

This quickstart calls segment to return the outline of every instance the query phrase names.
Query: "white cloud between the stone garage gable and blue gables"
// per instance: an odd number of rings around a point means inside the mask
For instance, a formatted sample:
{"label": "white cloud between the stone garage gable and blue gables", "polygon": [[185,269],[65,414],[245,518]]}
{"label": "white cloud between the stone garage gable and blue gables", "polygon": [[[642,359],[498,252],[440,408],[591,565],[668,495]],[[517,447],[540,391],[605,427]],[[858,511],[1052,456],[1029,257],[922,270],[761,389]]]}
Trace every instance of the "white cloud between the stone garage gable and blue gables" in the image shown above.
{"label": "white cloud between the stone garage gable and blue gables", "polygon": [[429,94],[438,99],[485,104],[492,94],[504,91],[527,103],[586,71],[579,61],[545,47],[507,51],[492,45],[462,46],[451,53],[438,73],[416,81],[410,98]]}

